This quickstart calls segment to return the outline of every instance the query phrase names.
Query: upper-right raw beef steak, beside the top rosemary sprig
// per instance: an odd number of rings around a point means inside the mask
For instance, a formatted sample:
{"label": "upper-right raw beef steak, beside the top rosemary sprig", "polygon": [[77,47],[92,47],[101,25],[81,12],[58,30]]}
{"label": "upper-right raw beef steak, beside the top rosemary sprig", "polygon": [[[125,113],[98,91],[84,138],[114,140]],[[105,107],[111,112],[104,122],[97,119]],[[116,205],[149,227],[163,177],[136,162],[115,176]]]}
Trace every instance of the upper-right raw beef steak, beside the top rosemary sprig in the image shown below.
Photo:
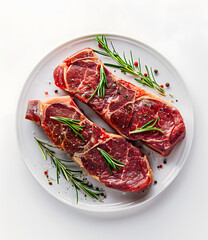
{"label": "upper-right raw beef steak, beside the top rosemary sprig", "polygon": [[[152,149],[167,156],[185,137],[185,125],[179,111],[162,98],[115,77],[105,67],[108,84],[105,98],[95,94],[90,99],[100,81],[101,64],[91,48],[83,49],[55,69],[55,84],[91,106],[125,138],[142,140]],[[154,127],[161,129],[163,133],[131,133],[157,118]]]}

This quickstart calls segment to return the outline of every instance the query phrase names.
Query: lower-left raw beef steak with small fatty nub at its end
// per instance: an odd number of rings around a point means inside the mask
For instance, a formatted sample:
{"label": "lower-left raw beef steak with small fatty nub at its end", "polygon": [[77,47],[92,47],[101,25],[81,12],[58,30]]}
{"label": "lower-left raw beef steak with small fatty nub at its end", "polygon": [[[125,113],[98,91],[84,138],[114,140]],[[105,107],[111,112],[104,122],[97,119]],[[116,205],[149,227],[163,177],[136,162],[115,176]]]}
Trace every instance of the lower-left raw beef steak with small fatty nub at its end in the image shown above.
{"label": "lower-left raw beef steak with small fatty nub at its end", "polygon": [[[50,117],[79,120],[79,124],[85,126],[80,132],[85,141],[67,125]],[[41,125],[57,147],[69,153],[75,162],[107,187],[126,192],[139,192],[149,187],[153,181],[153,173],[146,156],[125,138],[106,133],[89,121],[70,96],[56,97],[44,103],[37,100],[29,101],[26,119]],[[125,167],[113,170],[111,174],[98,148],[124,163]]]}

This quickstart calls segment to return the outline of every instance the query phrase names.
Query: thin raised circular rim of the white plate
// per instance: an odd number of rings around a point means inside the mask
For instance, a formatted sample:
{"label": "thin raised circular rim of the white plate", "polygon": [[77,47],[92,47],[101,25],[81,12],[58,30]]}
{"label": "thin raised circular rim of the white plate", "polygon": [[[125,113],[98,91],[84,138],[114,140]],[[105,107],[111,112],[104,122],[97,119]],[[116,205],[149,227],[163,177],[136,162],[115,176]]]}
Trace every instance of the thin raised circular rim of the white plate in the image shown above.
{"label": "thin raised circular rim of the white plate", "polygon": [[[84,205],[80,205],[80,204],[73,204],[71,202],[68,202],[66,199],[62,198],[62,197],[59,197],[58,195],[54,195],[52,194],[52,192],[49,191],[49,189],[46,187],[46,185],[42,184],[41,181],[38,179],[38,177],[36,175],[33,174],[32,172],[32,168],[30,168],[28,162],[26,162],[24,160],[24,154],[23,154],[23,151],[22,151],[22,147],[21,147],[21,144],[20,144],[20,136],[19,136],[19,131],[18,131],[18,109],[19,107],[21,106],[21,100],[22,100],[22,95],[24,93],[24,90],[25,88],[27,87],[27,83],[29,82],[29,79],[32,77],[32,75],[37,71],[38,67],[44,63],[45,60],[47,60],[48,57],[50,57],[52,54],[54,54],[55,52],[57,52],[60,48],[63,48],[65,45],[68,45],[68,44],[73,44],[77,41],[80,41],[80,40],[83,40],[83,39],[86,39],[86,38],[93,38],[93,37],[96,37],[96,36],[101,36],[101,35],[105,35],[107,37],[117,37],[117,38],[121,38],[123,40],[130,40],[132,42],[135,42],[137,44],[139,44],[140,46],[144,46],[145,48],[149,49],[151,52],[153,52],[154,54],[156,54],[157,56],[159,56],[160,58],[162,58],[166,63],[167,63],[167,66],[168,68],[171,67],[172,70],[174,71],[175,74],[177,74],[177,76],[179,77],[179,79],[182,81],[182,84],[183,86],[185,87],[185,90],[187,92],[187,96],[189,97],[189,103],[190,103],[190,107],[191,107],[191,110],[192,110],[192,116],[191,116],[191,121],[192,121],[192,125],[193,125],[193,129],[192,129],[192,136],[191,136],[191,142],[188,146],[188,150],[186,151],[186,154],[184,155],[184,158],[183,158],[183,161],[181,162],[181,165],[180,165],[180,168],[178,168],[178,170],[175,172],[174,176],[172,176],[169,180],[168,180],[168,183],[166,183],[165,186],[161,187],[161,189],[152,197],[144,200],[143,202],[139,202],[139,203],[136,203],[136,204],[127,204],[125,206],[106,206],[106,207],[100,207],[100,206],[96,206],[94,208],[91,208],[89,206],[84,206]],[[66,41],[60,45],[58,45],[56,48],[54,48],[53,50],[51,50],[48,54],[46,54],[43,58],[41,58],[40,61],[38,61],[38,63],[35,65],[35,67],[32,69],[32,71],[30,72],[30,74],[28,75],[28,77],[26,78],[23,86],[22,86],[22,89],[20,91],[20,95],[18,97],[18,102],[17,102],[17,108],[16,108],[16,114],[15,114],[15,118],[16,118],[16,124],[15,124],[15,127],[16,127],[16,139],[17,139],[17,142],[18,142],[18,148],[19,148],[19,152],[20,152],[20,155],[21,155],[21,158],[23,160],[23,162],[25,163],[25,165],[27,166],[27,168],[29,169],[31,175],[35,178],[35,180],[39,183],[39,185],[41,187],[43,187],[44,190],[46,190],[51,196],[53,196],[55,199],[59,200],[60,202],[70,206],[70,207],[73,207],[75,209],[78,209],[78,210],[84,210],[86,212],[97,212],[97,213],[110,213],[110,212],[124,212],[124,211],[127,211],[129,209],[133,209],[133,208],[139,208],[145,204],[147,204],[148,202],[152,201],[153,199],[157,198],[159,194],[161,194],[163,191],[165,191],[167,189],[167,187],[173,183],[176,179],[176,177],[178,176],[178,174],[181,172],[181,170],[183,169],[186,161],[187,161],[187,158],[190,154],[190,150],[191,150],[191,147],[192,147],[192,144],[193,144],[193,138],[194,138],[194,126],[195,126],[195,122],[194,122],[194,108],[193,108],[193,102],[192,102],[192,99],[190,97],[190,93],[189,93],[189,89],[187,88],[186,84],[185,84],[185,81],[184,79],[181,77],[181,74],[180,72],[173,66],[173,64],[166,58],[164,57],[160,52],[158,52],[157,50],[155,50],[154,48],[152,48],[151,46],[149,46],[148,44],[140,41],[140,40],[137,40],[137,39],[134,39],[134,38],[131,38],[131,37],[128,37],[128,36],[124,36],[124,35],[121,35],[121,34],[114,34],[114,33],[93,33],[93,34],[87,34],[87,35],[82,35],[80,37],[76,37],[76,38],[72,38],[71,40],[69,41]]]}

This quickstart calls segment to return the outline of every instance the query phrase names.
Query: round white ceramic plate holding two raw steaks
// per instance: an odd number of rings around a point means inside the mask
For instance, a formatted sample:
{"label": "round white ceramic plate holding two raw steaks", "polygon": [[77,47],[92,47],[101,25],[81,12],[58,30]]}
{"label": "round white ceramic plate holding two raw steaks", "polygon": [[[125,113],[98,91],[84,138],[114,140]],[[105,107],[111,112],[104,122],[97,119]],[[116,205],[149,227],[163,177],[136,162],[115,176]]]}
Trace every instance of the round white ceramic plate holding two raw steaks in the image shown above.
{"label": "round white ceramic plate holding two raw steaks", "polygon": [[[76,204],[76,194],[72,184],[65,181],[62,176],[60,178],[60,184],[56,184],[56,181],[53,180],[56,179],[56,170],[52,166],[50,160],[44,161],[33,138],[36,136],[39,139],[48,141],[47,136],[40,126],[31,121],[25,120],[28,100],[45,100],[46,97],[67,94],[55,86],[53,81],[53,71],[65,58],[78,50],[85,47],[98,49],[96,41],[93,40],[94,36],[86,36],[69,41],[49,53],[35,67],[28,77],[22,90],[17,110],[17,135],[20,152],[27,167],[40,185],[51,195],[70,206],[88,211],[100,212],[129,209],[142,205],[160,194],[175,179],[183,167],[191,148],[194,131],[193,109],[190,97],[183,80],[175,68],[158,52],[139,41],[117,35],[107,34],[106,36],[108,40],[113,42],[119,53],[124,51],[128,56],[129,51],[132,50],[135,59],[140,58],[143,66],[146,64],[147,66],[152,66],[153,69],[158,69],[158,76],[156,78],[158,83],[163,85],[165,85],[167,81],[170,83],[170,87],[165,89],[167,97],[164,98],[169,102],[173,100],[173,104],[179,109],[184,118],[187,129],[186,138],[178,144],[172,153],[166,158],[167,164],[163,164],[164,157],[147,147],[143,147],[143,151],[148,154],[148,159],[157,184],[153,184],[151,188],[141,193],[123,193],[104,187],[107,197],[101,202],[92,200],[90,197],[85,197],[84,194],[80,192],[79,203]],[[98,57],[103,62],[112,62],[111,59],[107,57],[101,55],[98,55]],[[118,69],[109,69],[116,76],[151,91],[148,87],[142,86],[134,81],[132,76],[124,75]],[[58,94],[54,92],[56,89],[58,90]],[[48,92],[47,96],[45,95],[45,92]],[[169,94],[172,94],[173,97]],[[114,130],[101,120],[100,117],[98,117],[88,106],[76,99],[75,101],[78,106],[84,110],[84,113],[89,119],[97,123],[100,127],[105,128],[108,132],[114,132]],[[63,157],[69,158],[69,156],[64,153],[59,154],[64,155]],[[163,168],[159,170],[157,166],[160,164],[163,165]],[[73,166],[73,164],[71,164],[71,166]],[[48,170],[49,177],[52,178],[52,185],[48,184],[48,180],[44,175],[45,170]],[[94,186],[103,187],[101,183],[95,181],[89,175],[87,178]]]}

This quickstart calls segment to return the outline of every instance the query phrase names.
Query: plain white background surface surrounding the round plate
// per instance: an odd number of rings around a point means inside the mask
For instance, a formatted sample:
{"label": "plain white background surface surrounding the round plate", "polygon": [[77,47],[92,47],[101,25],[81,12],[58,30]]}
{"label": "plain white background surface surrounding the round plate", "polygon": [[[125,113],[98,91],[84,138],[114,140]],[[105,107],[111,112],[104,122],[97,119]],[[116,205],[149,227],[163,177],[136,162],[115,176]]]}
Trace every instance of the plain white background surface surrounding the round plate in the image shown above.
{"label": "plain white background surface surrounding the round plate", "polygon": [[[208,239],[208,2],[1,1],[0,239]],[[34,66],[58,45],[92,33],[126,35],[162,53],[184,78],[195,137],[176,180],[143,208],[89,214],[39,186],[16,140],[18,97]]]}

